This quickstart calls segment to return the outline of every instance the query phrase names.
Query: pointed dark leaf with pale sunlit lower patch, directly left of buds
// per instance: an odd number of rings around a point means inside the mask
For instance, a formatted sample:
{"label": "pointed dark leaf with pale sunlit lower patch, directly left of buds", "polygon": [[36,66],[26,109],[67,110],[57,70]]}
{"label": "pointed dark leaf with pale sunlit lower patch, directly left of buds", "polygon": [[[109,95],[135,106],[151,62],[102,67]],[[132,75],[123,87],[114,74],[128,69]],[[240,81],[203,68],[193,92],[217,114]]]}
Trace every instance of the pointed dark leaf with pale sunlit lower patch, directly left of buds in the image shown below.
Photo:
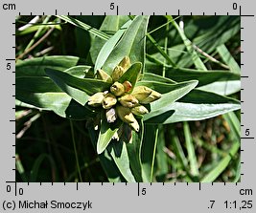
{"label": "pointed dark leaf with pale sunlit lower patch, directly left of buds", "polygon": [[53,69],[46,69],[45,73],[49,75],[59,88],[69,96],[84,105],[88,97],[97,92],[108,90],[109,83],[94,78],[79,78]]}

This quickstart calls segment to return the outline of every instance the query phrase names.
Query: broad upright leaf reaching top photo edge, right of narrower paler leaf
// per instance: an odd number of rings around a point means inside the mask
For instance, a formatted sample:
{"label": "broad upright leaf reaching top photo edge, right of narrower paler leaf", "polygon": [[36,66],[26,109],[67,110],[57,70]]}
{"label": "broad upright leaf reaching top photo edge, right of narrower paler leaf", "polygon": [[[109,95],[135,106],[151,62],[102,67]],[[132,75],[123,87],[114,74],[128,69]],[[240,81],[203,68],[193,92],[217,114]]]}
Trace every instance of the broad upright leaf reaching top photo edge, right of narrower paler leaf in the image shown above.
{"label": "broad upright leaf reaching top photo edge, right of narrower paler leaf", "polygon": [[[127,32],[105,60],[103,70],[110,75],[115,66],[128,55],[131,63],[145,61],[145,43],[149,16],[138,15],[129,25]],[[142,68],[144,70],[144,68]]]}

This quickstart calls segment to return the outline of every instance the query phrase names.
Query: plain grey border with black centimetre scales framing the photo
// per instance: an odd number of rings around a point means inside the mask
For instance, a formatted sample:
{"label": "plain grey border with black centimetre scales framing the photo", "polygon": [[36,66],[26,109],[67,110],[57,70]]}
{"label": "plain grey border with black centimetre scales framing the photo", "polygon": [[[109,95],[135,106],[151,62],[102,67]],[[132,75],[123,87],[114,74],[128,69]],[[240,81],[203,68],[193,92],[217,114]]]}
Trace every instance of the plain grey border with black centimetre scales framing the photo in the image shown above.
{"label": "plain grey border with black centimetre scales framing the photo", "polygon": [[[46,212],[197,211],[255,212],[255,65],[253,1],[157,2],[6,1],[1,3],[1,212],[35,212],[29,202],[40,202]],[[85,3],[83,3],[85,4]],[[15,16],[19,14],[180,14],[241,15],[242,43],[242,181],[235,183],[18,183],[15,182]],[[161,199],[158,199],[161,198]],[[28,201],[28,202],[26,202]],[[52,201],[52,202],[47,202]],[[60,203],[61,202],[61,203]],[[31,204],[31,205],[34,205]],[[23,206],[22,210],[18,205]],[[66,206],[66,209],[57,206]],[[51,208],[50,208],[51,206]],[[113,207],[114,206],[114,207]],[[40,209],[43,211],[43,209]],[[14,212],[12,211],[12,212]]]}

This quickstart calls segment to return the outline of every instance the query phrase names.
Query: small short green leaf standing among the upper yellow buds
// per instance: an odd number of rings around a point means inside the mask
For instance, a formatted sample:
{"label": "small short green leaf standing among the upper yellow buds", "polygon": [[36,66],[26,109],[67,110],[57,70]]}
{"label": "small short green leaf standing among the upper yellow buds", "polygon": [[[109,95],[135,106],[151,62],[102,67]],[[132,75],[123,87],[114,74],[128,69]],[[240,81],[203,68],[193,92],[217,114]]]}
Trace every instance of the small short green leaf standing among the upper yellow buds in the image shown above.
{"label": "small short green leaf standing among the upper yellow buds", "polygon": [[138,79],[138,76],[140,75],[141,68],[142,68],[141,62],[132,64],[128,68],[128,71],[124,75],[122,75],[118,81],[120,83],[124,83],[125,81],[128,80],[131,83],[132,87],[134,87],[134,85]]}

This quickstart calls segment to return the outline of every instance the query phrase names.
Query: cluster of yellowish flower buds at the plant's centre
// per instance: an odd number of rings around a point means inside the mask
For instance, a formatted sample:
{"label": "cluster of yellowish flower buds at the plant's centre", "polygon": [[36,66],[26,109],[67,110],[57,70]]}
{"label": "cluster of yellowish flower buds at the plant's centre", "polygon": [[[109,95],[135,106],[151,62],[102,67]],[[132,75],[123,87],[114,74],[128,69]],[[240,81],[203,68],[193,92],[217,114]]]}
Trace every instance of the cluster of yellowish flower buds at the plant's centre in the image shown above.
{"label": "cluster of yellowish flower buds at the plant's centre", "polygon": [[97,71],[97,77],[105,82],[112,83],[109,91],[99,92],[90,96],[88,105],[93,107],[102,106],[108,123],[115,122],[117,117],[135,130],[139,131],[139,124],[135,117],[142,117],[149,113],[143,104],[151,103],[161,97],[159,93],[146,86],[131,85],[129,81],[123,83],[118,80],[130,67],[130,60],[125,56],[123,60],[114,68],[111,76],[104,70]]}

